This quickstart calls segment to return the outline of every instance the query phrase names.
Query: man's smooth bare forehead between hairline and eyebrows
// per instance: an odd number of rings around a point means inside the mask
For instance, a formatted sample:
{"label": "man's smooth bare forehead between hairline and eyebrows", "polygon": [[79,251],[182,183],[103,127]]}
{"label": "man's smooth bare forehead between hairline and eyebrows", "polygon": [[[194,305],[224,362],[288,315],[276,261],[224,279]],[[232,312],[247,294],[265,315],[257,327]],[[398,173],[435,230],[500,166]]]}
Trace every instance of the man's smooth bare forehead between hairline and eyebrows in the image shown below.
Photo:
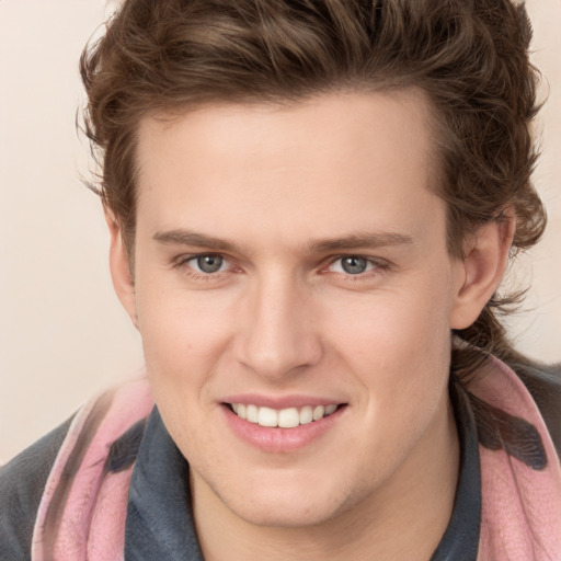
{"label": "man's smooth bare forehead between hairline and eyebrows", "polygon": [[410,226],[421,225],[425,207],[438,205],[431,130],[428,102],[414,90],[147,117],[139,225],[257,237],[288,224],[317,237],[351,226],[388,231],[415,215]]}

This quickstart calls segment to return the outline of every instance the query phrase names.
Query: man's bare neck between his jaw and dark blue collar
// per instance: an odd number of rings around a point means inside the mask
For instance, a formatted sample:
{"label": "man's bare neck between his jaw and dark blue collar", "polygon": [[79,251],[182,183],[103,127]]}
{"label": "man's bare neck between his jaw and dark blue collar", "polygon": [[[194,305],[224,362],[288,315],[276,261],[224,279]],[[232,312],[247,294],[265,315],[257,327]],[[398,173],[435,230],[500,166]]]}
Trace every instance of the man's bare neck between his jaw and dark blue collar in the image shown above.
{"label": "man's bare neck between his jaw and dark blue collar", "polygon": [[449,402],[440,416],[434,421],[435,431],[427,431],[427,442],[417,444],[382,489],[313,526],[250,524],[191,473],[193,511],[205,560],[428,561],[448,525],[459,471],[459,444]]}

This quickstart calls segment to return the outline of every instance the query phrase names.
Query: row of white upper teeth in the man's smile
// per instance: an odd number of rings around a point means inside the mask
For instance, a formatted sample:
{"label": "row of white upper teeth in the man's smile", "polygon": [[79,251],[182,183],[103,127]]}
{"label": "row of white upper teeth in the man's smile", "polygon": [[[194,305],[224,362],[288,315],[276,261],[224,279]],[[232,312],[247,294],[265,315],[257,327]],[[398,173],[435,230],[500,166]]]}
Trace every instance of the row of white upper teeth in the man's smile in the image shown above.
{"label": "row of white upper teeth in the man's smile", "polygon": [[257,405],[245,403],[232,403],[233,412],[250,423],[261,426],[294,428],[298,425],[306,425],[313,421],[319,421],[324,416],[331,415],[337,409],[337,405],[305,405],[304,408],[287,408],[279,411],[272,408],[259,408]]}

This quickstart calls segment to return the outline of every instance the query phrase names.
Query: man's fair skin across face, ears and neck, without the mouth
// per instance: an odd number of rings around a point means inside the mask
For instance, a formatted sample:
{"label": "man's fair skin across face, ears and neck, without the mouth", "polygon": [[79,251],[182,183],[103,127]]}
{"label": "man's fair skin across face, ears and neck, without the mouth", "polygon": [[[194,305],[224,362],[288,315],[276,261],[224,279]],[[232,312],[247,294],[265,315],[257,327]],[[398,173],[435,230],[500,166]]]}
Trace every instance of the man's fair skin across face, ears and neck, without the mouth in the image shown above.
{"label": "man's fair skin across face, ears and neck, without the mouth", "polygon": [[[205,559],[419,561],[442,538],[450,329],[493,294],[512,228],[449,256],[431,118],[409,90],[141,122],[135,268],[108,215],[112,273],[190,461]],[[197,268],[207,254],[218,272]],[[366,270],[345,272],[348,255]],[[262,450],[225,421],[248,392],[345,408],[310,444]]]}

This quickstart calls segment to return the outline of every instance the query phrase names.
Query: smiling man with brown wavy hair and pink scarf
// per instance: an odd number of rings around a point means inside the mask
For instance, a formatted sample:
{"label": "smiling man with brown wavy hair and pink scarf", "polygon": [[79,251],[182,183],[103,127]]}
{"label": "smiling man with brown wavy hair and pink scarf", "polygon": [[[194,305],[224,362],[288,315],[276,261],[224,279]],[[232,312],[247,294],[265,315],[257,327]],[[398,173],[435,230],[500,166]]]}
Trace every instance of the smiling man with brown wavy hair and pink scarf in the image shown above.
{"label": "smiling man with brown wavy hair and pink scarf", "polygon": [[496,319],[545,227],[529,35],[506,0],[125,2],[81,69],[149,382],[4,469],[5,557],[557,559],[559,381]]}

